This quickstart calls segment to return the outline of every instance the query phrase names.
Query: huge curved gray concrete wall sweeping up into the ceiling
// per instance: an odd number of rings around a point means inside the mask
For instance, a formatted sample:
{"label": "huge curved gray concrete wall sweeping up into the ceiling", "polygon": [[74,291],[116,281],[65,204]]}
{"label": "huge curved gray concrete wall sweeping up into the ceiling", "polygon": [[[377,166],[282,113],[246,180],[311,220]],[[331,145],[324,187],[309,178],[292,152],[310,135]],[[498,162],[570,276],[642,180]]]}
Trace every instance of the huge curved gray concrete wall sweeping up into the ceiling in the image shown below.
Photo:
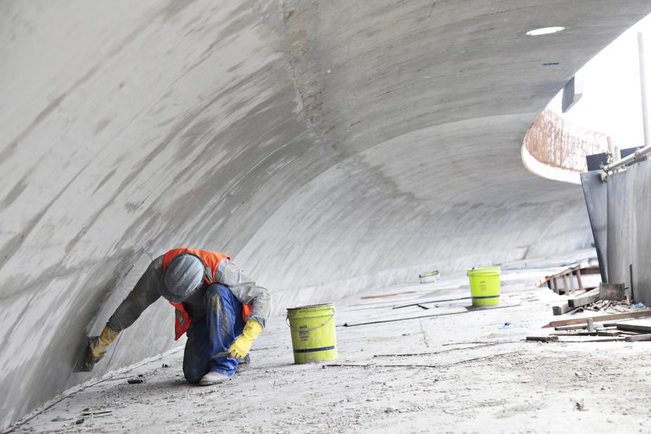
{"label": "huge curved gray concrete wall sweeping up into the ceiling", "polygon": [[[170,348],[159,302],[93,373],[71,372],[166,249],[228,252],[280,313],[420,265],[588,246],[580,188],[527,171],[522,139],[650,12],[646,0],[1,2],[0,426]],[[525,35],[549,25],[567,30]]]}

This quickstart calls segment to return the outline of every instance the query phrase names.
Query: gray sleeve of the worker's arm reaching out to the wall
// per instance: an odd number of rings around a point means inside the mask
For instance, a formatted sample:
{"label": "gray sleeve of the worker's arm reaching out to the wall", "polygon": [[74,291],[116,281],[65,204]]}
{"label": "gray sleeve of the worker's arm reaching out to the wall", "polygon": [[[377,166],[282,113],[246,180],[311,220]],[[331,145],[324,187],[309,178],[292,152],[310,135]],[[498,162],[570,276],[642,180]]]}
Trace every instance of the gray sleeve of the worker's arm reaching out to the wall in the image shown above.
{"label": "gray sleeve of the worker's arm reaching out to the wall", "polygon": [[124,298],[124,301],[111,315],[106,323],[107,326],[115,331],[122,331],[138,320],[138,317],[145,311],[147,306],[160,297],[158,283],[161,280],[162,272],[163,257],[159,256],[147,267],[136,286],[131,289],[129,295]]}

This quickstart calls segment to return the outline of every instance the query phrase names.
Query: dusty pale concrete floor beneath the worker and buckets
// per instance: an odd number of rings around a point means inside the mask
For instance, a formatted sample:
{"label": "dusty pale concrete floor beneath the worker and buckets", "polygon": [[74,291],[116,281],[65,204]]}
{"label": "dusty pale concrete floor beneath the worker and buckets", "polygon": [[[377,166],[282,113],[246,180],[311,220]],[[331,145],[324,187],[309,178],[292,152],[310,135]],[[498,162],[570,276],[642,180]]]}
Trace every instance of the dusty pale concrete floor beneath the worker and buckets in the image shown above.
{"label": "dusty pale concrete floor beneath the worker and buckets", "polygon": [[[459,305],[455,308],[451,303],[430,310],[392,311],[390,307],[417,297],[466,296],[464,276],[365,294],[381,297],[355,296],[338,302],[336,363],[346,366],[293,364],[289,331],[284,319],[277,317],[256,342],[251,369],[221,386],[185,383],[183,351],[177,348],[69,390],[14,429],[649,432],[651,343],[522,341],[527,335],[546,332],[549,329],[540,327],[558,319],[551,316],[549,307],[558,296],[533,285],[546,270],[518,270],[518,264],[513,268],[503,275],[502,304],[521,303],[514,307],[341,327],[347,321],[396,312],[428,315],[459,310]],[[505,322],[513,327],[502,329]],[[406,355],[413,353],[423,355]],[[138,374],[145,383],[127,383]],[[577,409],[577,402],[583,410]]]}

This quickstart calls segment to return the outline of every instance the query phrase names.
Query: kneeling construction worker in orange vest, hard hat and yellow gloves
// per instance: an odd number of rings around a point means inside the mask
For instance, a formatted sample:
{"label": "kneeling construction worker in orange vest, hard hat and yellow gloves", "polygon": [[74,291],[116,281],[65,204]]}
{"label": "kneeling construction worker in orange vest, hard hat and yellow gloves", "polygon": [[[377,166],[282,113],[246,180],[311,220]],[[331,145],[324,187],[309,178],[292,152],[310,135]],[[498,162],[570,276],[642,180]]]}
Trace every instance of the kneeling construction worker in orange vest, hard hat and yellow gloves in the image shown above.
{"label": "kneeling construction worker in orange vest, hard hat and yellow gloves", "polygon": [[91,369],[119,332],[160,296],[176,309],[176,339],[188,332],[183,355],[188,382],[221,383],[248,364],[251,345],[269,316],[269,292],[225,254],[173,249],[152,261],[100,336],[90,339]]}

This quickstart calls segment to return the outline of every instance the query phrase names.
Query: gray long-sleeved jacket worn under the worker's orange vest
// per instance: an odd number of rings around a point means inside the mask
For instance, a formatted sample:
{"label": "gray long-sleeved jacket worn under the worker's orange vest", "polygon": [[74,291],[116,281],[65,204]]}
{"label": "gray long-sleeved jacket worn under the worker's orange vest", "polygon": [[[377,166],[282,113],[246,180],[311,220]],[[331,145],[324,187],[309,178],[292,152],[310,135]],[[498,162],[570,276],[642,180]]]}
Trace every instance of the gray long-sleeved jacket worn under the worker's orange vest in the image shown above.
{"label": "gray long-sleeved jacket worn under the worker's orange vest", "polygon": [[[107,325],[115,331],[122,331],[138,320],[147,306],[161,296],[158,292],[158,285],[162,278],[163,256],[159,256],[147,267],[136,286],[111,315]],[[226,285],[240,303],[250,304],[252,312],[249,319],[256,320],[262,327],[265,327],[271,309],[271,296],[267,289],[259,287],[255,280],[244,274],[237,268],[237,265],[227,258],[219,263],[215,278],[216,282]],[[205,287],[201,291],[205,292]],[[188,307],[190,317],[205,315],[201,296],[192,296],[184,303]]]}

